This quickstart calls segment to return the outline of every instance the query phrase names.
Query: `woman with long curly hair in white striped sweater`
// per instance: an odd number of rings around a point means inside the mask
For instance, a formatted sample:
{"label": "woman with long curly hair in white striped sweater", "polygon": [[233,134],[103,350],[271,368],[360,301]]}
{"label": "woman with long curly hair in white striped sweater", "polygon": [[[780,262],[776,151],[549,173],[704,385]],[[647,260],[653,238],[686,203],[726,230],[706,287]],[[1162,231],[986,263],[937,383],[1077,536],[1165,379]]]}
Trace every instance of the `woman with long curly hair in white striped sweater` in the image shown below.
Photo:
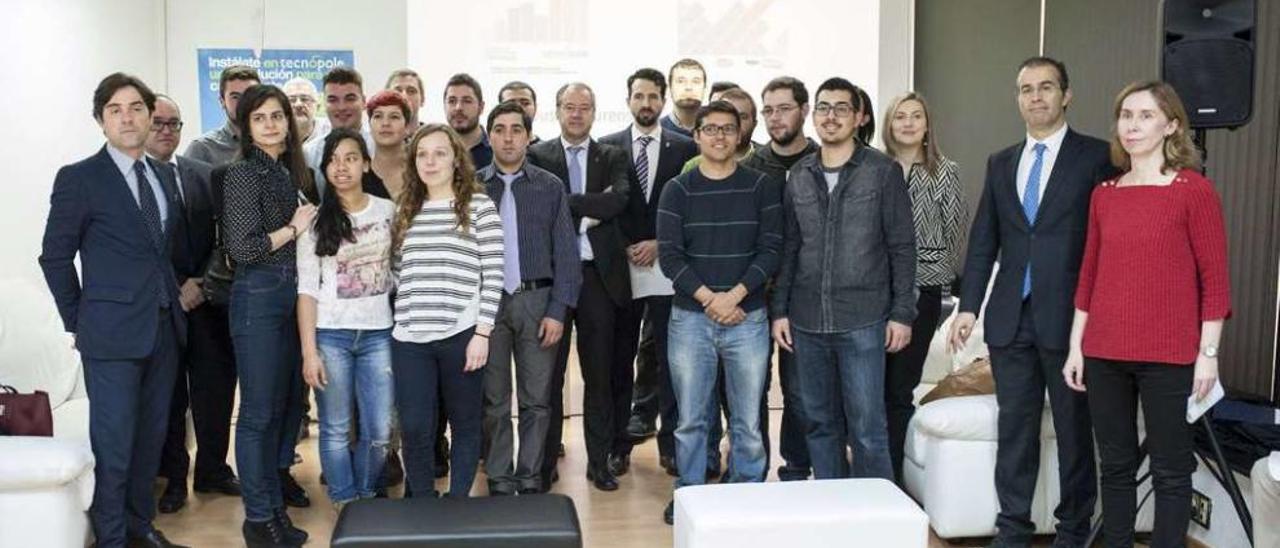
{"label": "woman with long curly hair in white striped sweater", "polygon": [[392,230],[398,271],[392,367],[407,489],[434,497],[439,398],[453,433],[449,496],[471,493],[480,461],[484,367],[502,298],[502,220],[462,137],[428,124],[408,145]]}

